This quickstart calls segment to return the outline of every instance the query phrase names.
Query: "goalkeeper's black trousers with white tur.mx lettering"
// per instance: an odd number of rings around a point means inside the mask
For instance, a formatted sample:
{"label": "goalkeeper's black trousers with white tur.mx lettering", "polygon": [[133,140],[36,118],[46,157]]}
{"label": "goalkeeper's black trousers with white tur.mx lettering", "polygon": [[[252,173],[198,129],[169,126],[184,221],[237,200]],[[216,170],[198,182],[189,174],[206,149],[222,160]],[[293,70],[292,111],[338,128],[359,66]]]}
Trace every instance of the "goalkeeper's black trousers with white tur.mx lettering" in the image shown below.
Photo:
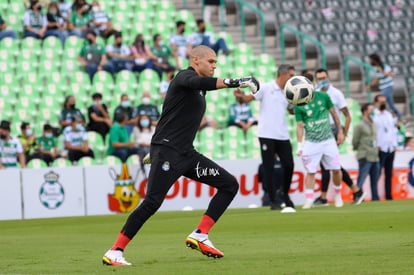
{"label": "goalkeeper's black trousers with white tur.mx lettering", "polygon": [[238,192],[239,184],[233,175],[195,150],[179,153],[164,145],[152,145],[150,156],[147,194],[129,215],[121,231],[130,239],[160,208],[168,190],[180,176],[217,188],[206,211],[214,221],[220,218]]}

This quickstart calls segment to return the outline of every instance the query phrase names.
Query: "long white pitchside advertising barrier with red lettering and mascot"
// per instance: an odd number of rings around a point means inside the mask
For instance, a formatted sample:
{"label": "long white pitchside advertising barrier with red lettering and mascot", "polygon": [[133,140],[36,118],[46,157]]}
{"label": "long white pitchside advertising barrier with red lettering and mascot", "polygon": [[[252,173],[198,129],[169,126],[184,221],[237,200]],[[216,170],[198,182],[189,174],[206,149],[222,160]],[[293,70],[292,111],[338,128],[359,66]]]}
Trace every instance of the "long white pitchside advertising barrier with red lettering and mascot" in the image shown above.
{"label": "long white pitchside advertising barrier with red lettering and mascot", "polygon": [[[260,160],[223,160],[218,163],[230,171],[240,184],[239,194],[230,207],[261,206],[263,191],[257,177]],[[342,156],[342,165],[356,182],[358,163],[355,157]],[[392,178],[394,199],[414,198],[414,182],[409,182],[409,178],[414,181],[413,165],[412,152],[396,154]],[[209,167],[197,167],[200,181],[203,175],[216,172]],[[143,171],[137,164],[0,170],[0,220],[127,213],[145,198],[147,174],[148,171]],[[303,204],[305,200],[304,179],[302,161],[295,158],[290,195],[296,205]],[[369,177],[364,183],[364,190],[368,193],[367,200],[370,200]],[[383,174],[378,190],[380,197],[384,198]],[[318,173],[315,196],[319,191]],[[181,177],[170,189],[160,210],[205,209],[214,194],[214,188]],[[345,184],[342,195],[344,201],[352,201],[352,192]],[[333,198],[332,188],[328,191],[328,198]]]}

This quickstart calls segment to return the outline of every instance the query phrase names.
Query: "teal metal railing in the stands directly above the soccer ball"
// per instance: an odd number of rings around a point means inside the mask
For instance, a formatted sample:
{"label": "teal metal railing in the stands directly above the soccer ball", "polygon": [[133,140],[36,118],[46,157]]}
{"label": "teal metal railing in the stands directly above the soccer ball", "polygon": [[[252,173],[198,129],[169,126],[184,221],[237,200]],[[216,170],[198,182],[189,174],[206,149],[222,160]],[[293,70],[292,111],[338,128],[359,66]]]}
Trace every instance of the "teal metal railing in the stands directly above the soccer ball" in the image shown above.
{"label": "teal metal railing in the stands directly above the soccer ball", "polygon": [[286,55],[285,55],[285,31],[291,32],[295,34],[299,38],[299,45],[300,45],[300,56],[301,56],[301,65],[302,68],[306,68],[306,48],[305,48],[305,40],[309,41],[310,43],[314,44],[317,49],[319,49],[319,56],[321,59],[321,67],[326,68],[326,49],[325,45],[315,39],[312,36],[309,36],[298,29],[287,25],[282,24],[280,25],[280,31],[279,31],[279,41],[280,41],[280,57],[282,63],[285,63],[286,61]]}

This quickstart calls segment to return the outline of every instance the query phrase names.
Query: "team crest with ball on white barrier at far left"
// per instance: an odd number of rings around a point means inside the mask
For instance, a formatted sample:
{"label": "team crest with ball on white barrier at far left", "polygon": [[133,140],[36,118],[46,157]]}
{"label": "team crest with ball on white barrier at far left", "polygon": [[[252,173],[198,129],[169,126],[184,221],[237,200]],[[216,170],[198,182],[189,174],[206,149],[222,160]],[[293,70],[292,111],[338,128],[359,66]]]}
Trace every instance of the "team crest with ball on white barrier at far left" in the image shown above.
{"label": "team crest with ball on white barrier at far left", "polygon": [[53,171],[45,174],[45,182],[40,187],[40,202],[49,209],[56,209],[62,205],[65,200],[65,190],[62,184],[58,182],[59,175]]}

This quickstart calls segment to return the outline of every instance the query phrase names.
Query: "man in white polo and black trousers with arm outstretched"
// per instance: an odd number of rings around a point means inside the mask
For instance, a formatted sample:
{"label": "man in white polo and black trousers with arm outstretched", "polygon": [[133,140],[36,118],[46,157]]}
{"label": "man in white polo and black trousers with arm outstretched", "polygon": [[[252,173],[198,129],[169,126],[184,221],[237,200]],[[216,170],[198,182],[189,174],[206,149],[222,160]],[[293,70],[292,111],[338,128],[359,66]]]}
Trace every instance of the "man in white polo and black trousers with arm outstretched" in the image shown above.
{"label": "man in white polo and black trousers with arm outstretched", "polygon": [[[269,193],[271,210],[281,209],[283,203],[286,207],[294,207],[289,197],[294,163],[286,123],[286,112],[289,111],[290,114],[293,114],[293,108],[283,93],[286,82],[294,75],[295,68],[293,66],[282,64],[278,68],[276,79],[261,85],[256,94],[235,93],[244,102],[260,100],[258,137],[263,163],[263,184]],[[279,156],[283,169],[282,190],[276,190],[273,184],[275,154]],[[279,199],[282,199],[283,202],[278,201]]]}

